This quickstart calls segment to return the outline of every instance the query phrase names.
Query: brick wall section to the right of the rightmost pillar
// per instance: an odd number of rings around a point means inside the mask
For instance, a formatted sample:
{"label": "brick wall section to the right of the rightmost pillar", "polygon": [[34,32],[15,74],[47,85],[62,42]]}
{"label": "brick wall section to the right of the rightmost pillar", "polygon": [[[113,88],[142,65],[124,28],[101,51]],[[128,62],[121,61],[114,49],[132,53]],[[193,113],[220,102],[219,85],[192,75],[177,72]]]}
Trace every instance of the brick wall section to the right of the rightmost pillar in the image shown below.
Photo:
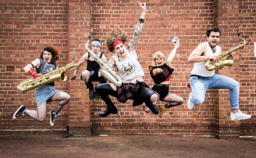
{"label": "brick wall section to the right of the rightmost pillar", "polygon": [[[247,39],[247,45],[239,53],[240,107],[242,111],[253,115],[251,119],[240,121],[241,136],[255,136],[255,98],[256,98],[256,57],[254,57],[254,42],[256,42],[256,2],[239,1],[239,30]],[[239,40],[241,44],[241,40]]]}

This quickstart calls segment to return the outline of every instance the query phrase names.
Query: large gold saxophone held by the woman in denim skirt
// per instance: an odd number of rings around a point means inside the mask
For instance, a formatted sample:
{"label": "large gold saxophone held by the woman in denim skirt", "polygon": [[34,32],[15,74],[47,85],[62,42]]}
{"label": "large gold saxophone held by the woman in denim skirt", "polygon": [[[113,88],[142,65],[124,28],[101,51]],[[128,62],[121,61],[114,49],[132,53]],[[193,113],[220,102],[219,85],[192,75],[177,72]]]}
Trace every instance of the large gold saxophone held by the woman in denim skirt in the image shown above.
{"label": "large gold saxophone held by the woman in denim skirt", "polygon": [[[73,62],[74,62],[74,59],[75,58],[73,57],[72,58]],[[74,64],[73,62],[64,67],[53,70],[49,73],[39,75],[40,80],[36,81],[36,80],[34,80],[34,78],[30,78],[30,79],[21,81],[21,83],[17,86],[18,91],[21,93],[24,93],[24,92],[33,90],[34,88],[49,84],[49,83],[59,80],[59,79],[61,79],[63,82],[65,82],[68,78],[66,71],[73,71],[78,68],[78,65]]]}

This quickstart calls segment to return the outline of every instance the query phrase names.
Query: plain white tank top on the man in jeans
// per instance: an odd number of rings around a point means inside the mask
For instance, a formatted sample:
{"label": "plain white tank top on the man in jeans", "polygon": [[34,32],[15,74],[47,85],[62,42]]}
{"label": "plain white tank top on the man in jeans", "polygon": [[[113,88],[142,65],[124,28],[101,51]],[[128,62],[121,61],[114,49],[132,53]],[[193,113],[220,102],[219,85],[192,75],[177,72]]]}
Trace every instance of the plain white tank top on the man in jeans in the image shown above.
{"label": "plain white tank top on the man in jeans", "polygon": [[[205,56],[210,56],[210,55],[219,55],[219,46],[216,46],[216,53],[212,52],[211,47],[209,46],[209,44],[207,42],[204,42],[207,45],[207,51]],[[199,76],[203,76],[203,77],[212,77],[215,73],[215,70],[212,71],[208,71],[206,70],[206,68],[204,67],[204,61],[201,62],[195,62],[194,63],[194,67],[193,70],[191,71],[191,75],[199,75]]]}

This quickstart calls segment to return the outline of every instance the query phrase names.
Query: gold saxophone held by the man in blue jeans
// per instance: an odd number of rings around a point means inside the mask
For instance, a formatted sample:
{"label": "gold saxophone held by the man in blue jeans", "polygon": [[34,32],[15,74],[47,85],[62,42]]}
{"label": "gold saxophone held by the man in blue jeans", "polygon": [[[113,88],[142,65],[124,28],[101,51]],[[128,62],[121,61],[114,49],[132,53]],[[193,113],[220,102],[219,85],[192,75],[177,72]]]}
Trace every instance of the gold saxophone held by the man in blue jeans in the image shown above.
{"label": "gold saxophone held by the man in blue jeans", "polygon": [[229,66],[229,68],[232,66],[233,64],[233,59],[228,59],[228,60],[224,60],[225,58],[229,57],[231,55],[231,52],[235,52],[237,50],[239,50],[240,48],[242,48],[243,46],[246,45],[246,41],[240,36],[239,32],[236,30],[236,34],[238,34],[238,36],[244,41],[243,44],[236,46],[235,48],[228,50],[222,54],[218,55],[218,60],[216,62],[213,62],[213,59],[207,59],[205,60],[205,64],[204,67],[206,68],[206,70],[208,71],[212,71],[215,70],[216,68],[222,67],[222,66]]}

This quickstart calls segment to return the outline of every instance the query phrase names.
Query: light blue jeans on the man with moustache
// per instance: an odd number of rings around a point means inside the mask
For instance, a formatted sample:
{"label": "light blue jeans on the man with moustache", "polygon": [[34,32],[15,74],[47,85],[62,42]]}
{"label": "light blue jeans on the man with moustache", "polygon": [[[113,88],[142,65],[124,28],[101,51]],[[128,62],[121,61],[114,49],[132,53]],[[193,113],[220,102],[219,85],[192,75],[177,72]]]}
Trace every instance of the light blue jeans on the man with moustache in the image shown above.
{"label": "light blue jeans on the man with moustache", "polygon": [[192,94],[190,95],[190,101],[194,105],[200,105],[204,102],[205,92],[208,88],[213,89],[229,89],[229,100],[231,109],[239,108],[239,83],[229,77],[214,74],[210,78],[200,78],[190,77],[189,78],[190,87]]}

